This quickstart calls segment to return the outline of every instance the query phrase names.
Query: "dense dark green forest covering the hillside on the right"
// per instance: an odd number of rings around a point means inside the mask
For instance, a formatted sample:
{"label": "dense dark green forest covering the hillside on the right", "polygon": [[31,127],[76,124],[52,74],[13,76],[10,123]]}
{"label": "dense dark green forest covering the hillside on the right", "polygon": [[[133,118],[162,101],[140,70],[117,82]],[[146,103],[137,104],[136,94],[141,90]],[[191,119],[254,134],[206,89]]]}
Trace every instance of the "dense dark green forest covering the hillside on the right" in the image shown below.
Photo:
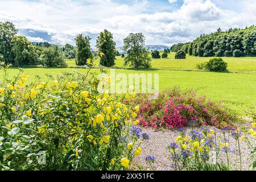
{"label": "dense dark green forest covering the hillside on the right", "polygon": [[180,49],[189,55],[201,57],[256,56],[256,26],[245,29],[230,28],[226,31],[218,28],[212,34],[202,34],[193,42],[175,44],[170,48],[173,52]]}

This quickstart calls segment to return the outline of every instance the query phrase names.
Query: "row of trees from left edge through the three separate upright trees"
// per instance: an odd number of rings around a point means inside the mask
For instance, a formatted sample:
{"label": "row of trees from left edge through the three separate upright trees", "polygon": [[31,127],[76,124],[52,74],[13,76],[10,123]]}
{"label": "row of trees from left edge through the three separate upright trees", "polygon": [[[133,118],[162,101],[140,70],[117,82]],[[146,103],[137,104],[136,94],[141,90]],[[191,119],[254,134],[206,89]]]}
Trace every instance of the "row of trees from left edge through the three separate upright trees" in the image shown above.
{"label": "row of trees from left edge through the three separate upright trees", "polygon": [[[75,38],[76,46],[65,44],[32,43],[24,36],[17,35],[18,30],[11,22],[0,22],[0,61],[13,65],[46,65],[47,67],[66,66],[65,59],[76,59],[76,65],[85,65],[88,59],[97,55],[90,47],[89,36],[79,34]],[[127,53],[124,65],[133,68],[149,68],[150,51],[144,48],[145,37],[142,33],[129,34],[123,39],[123,51]],[[121,55],[115,49],[113,34],[108,30],[100,32],[97,37],[96,48],[104,53],[100,64],[112,67],[115,56]]]}

